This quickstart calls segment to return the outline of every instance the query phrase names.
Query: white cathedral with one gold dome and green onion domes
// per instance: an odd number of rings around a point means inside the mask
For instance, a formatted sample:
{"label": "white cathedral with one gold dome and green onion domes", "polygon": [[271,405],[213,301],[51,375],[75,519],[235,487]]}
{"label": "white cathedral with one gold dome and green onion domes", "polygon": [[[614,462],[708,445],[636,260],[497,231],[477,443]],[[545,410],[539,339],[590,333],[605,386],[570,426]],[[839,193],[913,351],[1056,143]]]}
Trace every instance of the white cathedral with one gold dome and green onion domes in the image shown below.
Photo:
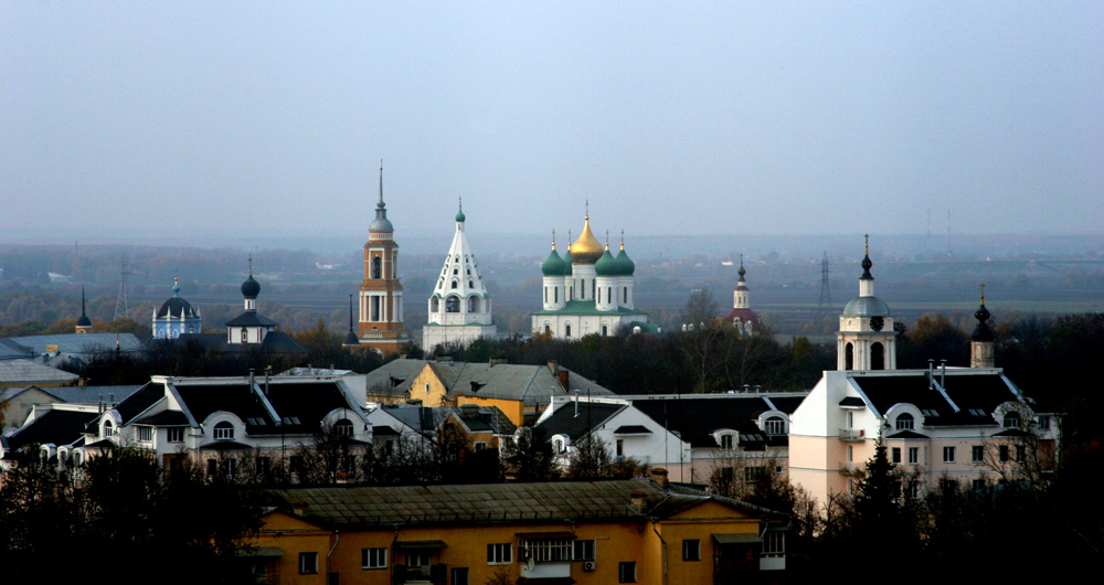
{"label": "white cathedral with one gold dome and green onion domes", "polygon": [[[569,242],[571,235],[567,236]],[[648,313],[638,311],[633,300],[633,273],[636,265],[625,253],[624,236],[620,252],[605,249],[591,232],[591,215],[583,223],[578,240],[569,244],[560,257],[552,233],[552,252],[541,264],[544,273],[543,310],[532,313],[533,333],[562,338],[581,338],[592,333],[612,336],[618,330],[657,332],[648,322]]]}

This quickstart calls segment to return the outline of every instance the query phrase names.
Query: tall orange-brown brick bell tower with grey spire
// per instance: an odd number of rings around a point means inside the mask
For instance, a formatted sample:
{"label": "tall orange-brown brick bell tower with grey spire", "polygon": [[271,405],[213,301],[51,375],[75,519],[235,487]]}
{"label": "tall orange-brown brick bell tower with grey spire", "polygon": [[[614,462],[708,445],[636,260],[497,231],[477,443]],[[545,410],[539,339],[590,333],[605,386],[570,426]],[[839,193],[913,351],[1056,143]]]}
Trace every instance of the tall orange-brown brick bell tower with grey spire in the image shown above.
{"label": "tall orange-brown brick bell tower with grey spire", "polygon": [[399,280],[399,244],[383,202],[383,167],[380,167],[380,201],[368,227],[364,244],[364,279],[360,285],[360,321],[357,334],[362,347],[390,355],[411,342],[403,326],[403,285]]}

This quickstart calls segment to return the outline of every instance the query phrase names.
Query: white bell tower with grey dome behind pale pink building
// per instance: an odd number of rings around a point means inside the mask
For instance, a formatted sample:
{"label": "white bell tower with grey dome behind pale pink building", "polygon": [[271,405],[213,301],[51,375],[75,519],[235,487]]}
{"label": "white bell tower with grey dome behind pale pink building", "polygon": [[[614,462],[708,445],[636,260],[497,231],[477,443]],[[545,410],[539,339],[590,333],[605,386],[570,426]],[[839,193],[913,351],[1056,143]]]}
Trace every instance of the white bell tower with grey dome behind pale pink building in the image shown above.
{"label": "white bell tower with grey dome behind pale pink building", "polygon": [[874,296],[870,274],[870,235],[867,234],[859,296],[843,307],[836,333],[837,370],[896,370],[896,332],[885,302]]}

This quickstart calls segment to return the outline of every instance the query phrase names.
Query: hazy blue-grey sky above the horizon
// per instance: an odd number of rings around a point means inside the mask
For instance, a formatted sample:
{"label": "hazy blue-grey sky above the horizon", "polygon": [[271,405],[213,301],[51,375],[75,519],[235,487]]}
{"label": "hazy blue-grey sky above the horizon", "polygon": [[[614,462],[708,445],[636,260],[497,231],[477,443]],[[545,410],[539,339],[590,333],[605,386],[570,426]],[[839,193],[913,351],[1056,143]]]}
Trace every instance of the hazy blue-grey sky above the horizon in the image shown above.
{"label": "hazy blue-grey sky above the horizon", "polygon": [[0,87],[9,242],[1104,231],[1100,1],[2,0]]}

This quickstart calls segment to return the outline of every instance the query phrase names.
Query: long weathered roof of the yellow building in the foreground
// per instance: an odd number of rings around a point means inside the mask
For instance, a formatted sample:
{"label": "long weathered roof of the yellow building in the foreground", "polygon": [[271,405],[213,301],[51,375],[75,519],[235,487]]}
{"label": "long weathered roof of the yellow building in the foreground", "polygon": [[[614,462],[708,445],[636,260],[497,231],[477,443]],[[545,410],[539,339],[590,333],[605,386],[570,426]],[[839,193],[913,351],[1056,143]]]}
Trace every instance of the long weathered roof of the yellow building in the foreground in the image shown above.
{"label": "long weathered roof of the yellow building in the foreground", "polygon": [[[644,509],[633,506],[633,496]],[[741,511],[752,507],[708,494],[660,489],[645,479],[412,487],[328,487],[269,490],[277,510],[343,531],[414,525],[546,524],[666,518],[719,501]],[[760,512],[760,509],[755,509]],[[446,543],[447,544],[447,543]]]}

